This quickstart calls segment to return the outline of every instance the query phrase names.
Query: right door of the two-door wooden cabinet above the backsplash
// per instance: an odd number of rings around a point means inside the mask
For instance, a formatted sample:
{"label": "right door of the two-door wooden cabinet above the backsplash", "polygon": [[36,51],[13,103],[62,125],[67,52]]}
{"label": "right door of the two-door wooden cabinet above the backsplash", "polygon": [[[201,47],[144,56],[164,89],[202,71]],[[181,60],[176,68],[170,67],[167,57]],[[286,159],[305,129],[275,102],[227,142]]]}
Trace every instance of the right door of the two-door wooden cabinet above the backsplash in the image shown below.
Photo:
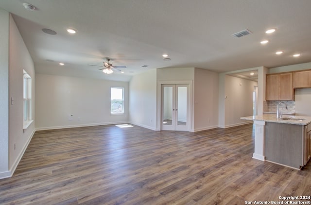
{"label": "right door of the two-door wooden cabinet above the backsplash", "polygon": [[293,73],[279,75],[279,100],[293,100]]}

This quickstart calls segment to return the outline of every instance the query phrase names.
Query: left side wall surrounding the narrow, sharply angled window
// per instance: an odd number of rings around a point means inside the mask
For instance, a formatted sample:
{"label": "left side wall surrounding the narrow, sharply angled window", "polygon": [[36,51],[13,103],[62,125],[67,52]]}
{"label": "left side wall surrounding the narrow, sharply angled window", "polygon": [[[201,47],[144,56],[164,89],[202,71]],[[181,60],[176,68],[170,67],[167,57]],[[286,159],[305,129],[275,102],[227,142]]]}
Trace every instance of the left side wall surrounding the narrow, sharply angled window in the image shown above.
{"label": "left side wall surrounding the narrow, sharply angled window", "polygon": [[10,16],[9,38],[9,170],[13,174],[34,132],[35,122],[23,130],[23,70],[32,77],[32,116],[35,116],[35,67],[28,49]]}

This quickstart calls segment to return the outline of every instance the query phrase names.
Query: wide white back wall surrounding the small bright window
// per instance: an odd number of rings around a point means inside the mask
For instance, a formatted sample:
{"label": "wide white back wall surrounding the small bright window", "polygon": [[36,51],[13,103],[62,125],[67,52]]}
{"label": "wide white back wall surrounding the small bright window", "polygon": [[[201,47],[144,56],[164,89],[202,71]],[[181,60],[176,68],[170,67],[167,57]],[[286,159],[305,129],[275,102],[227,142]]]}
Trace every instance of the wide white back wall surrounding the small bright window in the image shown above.
{"label": "wide white back wall surrounding the small bright window", "polygon": [[[44,74],[35,80],[37,130],[128,122],[128,82]],[[111,87],[124,87],[122,115],[110,114]]]}

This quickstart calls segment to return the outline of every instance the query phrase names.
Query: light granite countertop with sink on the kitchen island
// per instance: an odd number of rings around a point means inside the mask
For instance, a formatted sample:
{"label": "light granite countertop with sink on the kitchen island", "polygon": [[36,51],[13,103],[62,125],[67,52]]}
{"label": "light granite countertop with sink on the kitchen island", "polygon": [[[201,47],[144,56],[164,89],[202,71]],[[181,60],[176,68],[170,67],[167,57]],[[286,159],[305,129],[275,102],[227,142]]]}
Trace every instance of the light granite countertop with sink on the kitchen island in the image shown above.
{"label": "light granite countertop with sink on the kitchen island", "polygon": [[285,115],[282,118],[287,117],[288,119],[276,119],[276,114],[263,114],[255,116],[241,117],[242,120],[259,120],[265,122],[276,122],[285,124],[295,124],[295,125],[308,125],[311,123],[310,116],[299,116],[299,115]]}

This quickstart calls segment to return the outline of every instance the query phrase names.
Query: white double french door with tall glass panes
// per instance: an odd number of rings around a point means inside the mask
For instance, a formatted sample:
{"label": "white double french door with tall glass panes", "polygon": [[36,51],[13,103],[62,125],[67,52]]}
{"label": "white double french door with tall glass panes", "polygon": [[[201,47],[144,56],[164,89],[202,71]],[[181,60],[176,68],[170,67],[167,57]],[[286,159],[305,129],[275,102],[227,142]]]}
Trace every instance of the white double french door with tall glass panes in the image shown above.
{"label": "white double french door with tall glass panes", "polygon": [[163,84],[161,130],[189,131],[189,85]]}

